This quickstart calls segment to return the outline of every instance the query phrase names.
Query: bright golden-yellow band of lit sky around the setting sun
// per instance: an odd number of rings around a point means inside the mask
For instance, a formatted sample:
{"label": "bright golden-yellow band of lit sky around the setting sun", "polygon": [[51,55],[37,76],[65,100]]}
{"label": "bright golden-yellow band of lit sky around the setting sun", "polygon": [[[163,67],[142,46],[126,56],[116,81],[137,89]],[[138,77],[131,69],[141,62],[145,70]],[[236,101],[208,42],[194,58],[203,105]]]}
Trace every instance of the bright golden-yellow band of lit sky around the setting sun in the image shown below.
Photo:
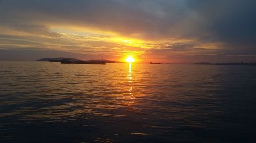
{"label": "bright golden-yellow band of lit sky around the setting sun", "polygon": [[[225,47],[223,43],[203,43],[198,41],[197,38],[181,39],[169,37],[148,39],[143,34],[140,35],[140,33],[125,35],[91,26],[74,26],[68,23],[44,24],[46,24],[46,30],[49,31],[47,33],[42,33],[41,31],[38,33],[36,31],[19,31],[17,33],[12,28],[0,26],[2,34],[20,37],[18,41],[15,39],[2,39],[0,47],[27,48],[43,45],[47,50],[54,48],[59,51],[74,52],[76,54],[88,54],[95,58],[103,57],[104,59],[120,62],[134,62],[134,60],[126,59],[130,55],[135,59],[136,63],[147,63],[149,61],[181,62],[181,59],[170,61],[166,57],[173,55],[185,55],[186,57],[199,54],[208,55],[208,51],[206,52],[203,49],[208,49],[209,52],[212,52],[213,50],[219,50],[220,47]],[[28,39],[31,37],[36,38],[37,42],[29,42]],[[190,43],[196,46],[186,47],[186,50],[169,50],[176,49],[179,46],[183,47]]]}

